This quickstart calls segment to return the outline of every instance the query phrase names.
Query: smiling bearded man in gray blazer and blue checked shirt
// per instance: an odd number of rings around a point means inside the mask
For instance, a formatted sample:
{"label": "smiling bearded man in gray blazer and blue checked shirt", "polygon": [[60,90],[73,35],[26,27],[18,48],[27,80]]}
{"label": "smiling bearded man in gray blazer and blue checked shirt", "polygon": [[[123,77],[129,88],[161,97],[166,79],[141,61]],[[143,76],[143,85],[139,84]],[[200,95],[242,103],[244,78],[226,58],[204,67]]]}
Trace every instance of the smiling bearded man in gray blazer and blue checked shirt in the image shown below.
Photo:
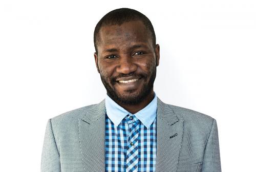
{"label": "smiling bearded man in gray blazer and blue checked shirt", "polygon": [[160,49],[146,16],[109,12],[94,45],[106,98],[48,121],[41,171],[221,171],[216,120],[153,91]]}

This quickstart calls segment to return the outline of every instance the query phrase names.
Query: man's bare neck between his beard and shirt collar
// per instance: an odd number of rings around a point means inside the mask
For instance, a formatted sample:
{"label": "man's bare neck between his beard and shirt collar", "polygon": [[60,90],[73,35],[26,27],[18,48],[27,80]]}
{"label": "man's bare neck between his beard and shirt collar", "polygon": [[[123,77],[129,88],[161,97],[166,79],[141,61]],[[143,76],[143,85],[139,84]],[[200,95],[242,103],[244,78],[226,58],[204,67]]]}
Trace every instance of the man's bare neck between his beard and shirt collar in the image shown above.
{"label": "man's bare neck between his beard and shirt collar", "polygon": [[121,103],[118,103],[118,104],[121,107],[123,107],[123,109],[130,112],[131,114],[136,114],[137,112],[142,110],[145,106],[147,106],[147,104],[149,104],[153,99],[154,99],[154,92],[152,91],[150,94],[148,94],[148,96],[144,100],[142,100],[138,104],[133,104],[133,105],[131,105],[131,104],[121,104]]}

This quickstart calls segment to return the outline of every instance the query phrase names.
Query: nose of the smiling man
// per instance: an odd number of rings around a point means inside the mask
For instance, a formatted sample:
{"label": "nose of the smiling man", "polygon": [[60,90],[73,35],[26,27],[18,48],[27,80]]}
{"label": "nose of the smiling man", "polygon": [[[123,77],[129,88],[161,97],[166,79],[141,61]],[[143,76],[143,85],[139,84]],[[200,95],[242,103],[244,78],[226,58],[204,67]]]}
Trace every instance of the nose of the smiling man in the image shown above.
{"label": "nose of the smiling man", "polygon": [[132,56],[123,55],[119,58],[119,64],[116,68],[118,73],[130,74],[137,70],[137,65]]}

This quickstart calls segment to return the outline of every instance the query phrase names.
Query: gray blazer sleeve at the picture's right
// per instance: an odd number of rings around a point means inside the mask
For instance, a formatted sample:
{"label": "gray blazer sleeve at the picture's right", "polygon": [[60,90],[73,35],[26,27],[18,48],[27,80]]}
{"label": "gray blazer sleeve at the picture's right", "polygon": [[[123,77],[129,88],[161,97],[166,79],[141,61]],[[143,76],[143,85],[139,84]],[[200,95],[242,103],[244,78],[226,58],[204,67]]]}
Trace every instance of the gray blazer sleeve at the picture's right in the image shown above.
{"label": "gray blazer sleeve at the picture's right", "polygon": [[213,119],[211,132],[204,151],[202,172],[221,171],[220,147],[217,122]]}

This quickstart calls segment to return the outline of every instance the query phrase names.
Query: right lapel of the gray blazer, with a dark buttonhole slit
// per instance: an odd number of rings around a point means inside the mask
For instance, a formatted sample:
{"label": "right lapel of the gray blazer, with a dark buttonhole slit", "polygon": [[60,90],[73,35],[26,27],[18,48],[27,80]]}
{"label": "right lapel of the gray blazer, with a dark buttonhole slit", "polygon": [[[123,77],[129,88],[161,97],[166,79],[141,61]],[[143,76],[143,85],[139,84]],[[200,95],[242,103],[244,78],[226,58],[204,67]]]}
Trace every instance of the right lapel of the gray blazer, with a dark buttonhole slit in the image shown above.
{"label": "right lapel of the gray blazer, with a dark buttonhole slit", "polygon": [[183,135],[183,121],[170,105],[157,101],[156,171],[176,171]]}

